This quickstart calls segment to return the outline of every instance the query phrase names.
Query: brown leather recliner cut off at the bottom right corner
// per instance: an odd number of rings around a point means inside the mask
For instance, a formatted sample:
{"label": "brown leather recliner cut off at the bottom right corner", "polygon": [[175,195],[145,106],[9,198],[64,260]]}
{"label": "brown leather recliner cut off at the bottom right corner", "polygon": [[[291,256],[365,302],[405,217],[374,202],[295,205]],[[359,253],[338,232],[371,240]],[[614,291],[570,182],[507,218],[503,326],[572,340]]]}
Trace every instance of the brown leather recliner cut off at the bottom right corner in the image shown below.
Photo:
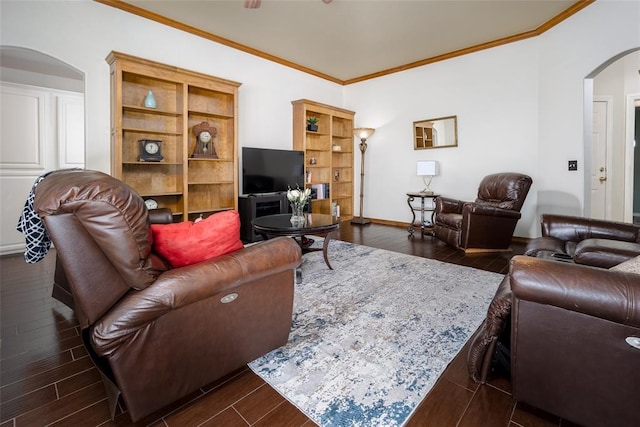
{"label": "brown leather recliner cut off at the bottom right corner", "polygon": [[[640,396],[640,275],[516,256],[471,338],[485,382],[507,331],[516,400],[584,426],[635,426]],[[504,338],[504,337],[503,337]]]}

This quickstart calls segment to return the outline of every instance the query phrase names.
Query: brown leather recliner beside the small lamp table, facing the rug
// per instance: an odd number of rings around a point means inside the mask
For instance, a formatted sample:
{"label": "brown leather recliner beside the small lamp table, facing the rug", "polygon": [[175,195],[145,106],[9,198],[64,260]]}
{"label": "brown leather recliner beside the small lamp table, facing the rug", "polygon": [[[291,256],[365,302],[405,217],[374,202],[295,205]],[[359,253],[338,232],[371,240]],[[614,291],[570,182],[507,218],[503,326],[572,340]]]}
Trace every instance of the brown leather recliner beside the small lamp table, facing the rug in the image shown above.
{"label": "brown leather recliner beside the small lamp table, facing the rug", "polygon": [[438,197],[435,236],[465,252],[508,251],[531,177],[519,173],[486,176],[475,202]]}

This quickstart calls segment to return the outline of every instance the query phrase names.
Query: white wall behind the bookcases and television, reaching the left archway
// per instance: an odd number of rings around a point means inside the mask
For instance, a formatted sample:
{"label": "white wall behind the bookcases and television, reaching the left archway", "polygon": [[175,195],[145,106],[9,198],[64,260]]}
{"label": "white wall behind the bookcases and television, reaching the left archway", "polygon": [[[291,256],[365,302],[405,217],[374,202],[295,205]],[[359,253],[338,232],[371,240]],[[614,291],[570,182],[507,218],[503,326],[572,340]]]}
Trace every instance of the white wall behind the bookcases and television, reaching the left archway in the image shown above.
{"label": "white wall behind the bookcases and television, reaching the left archway", "polygon": [[86,165],[109,172],[110,51],[242,83],[240,145],[291,148],[291,101],[342,105],[342,86],[89,0],[0,2],[0,40],[85,73]]}

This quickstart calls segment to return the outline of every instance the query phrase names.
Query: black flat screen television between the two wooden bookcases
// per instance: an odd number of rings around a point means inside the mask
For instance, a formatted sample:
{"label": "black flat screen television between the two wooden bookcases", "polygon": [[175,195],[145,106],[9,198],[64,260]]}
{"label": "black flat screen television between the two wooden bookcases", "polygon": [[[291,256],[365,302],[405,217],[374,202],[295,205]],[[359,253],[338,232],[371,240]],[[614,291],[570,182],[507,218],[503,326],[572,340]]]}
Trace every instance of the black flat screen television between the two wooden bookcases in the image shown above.
{"label": "black flat screen television between the two wooden bookcases", "polygon": [[304,152],[242,147],[242,193],[280,193],[304,187]]}

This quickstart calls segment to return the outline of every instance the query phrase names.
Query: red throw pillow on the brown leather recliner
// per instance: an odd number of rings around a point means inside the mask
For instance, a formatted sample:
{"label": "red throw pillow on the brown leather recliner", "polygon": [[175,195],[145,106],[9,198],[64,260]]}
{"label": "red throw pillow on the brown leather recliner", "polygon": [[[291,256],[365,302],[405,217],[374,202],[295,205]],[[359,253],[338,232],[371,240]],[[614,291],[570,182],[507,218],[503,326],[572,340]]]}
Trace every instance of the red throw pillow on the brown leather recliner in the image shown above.
{"label": "red throw pillow on the brown leather recliner", "polygon": [[219,212],[197,222],[151,224],[151,231],[154,251],[174,268],[243,248],[236,211]]}

